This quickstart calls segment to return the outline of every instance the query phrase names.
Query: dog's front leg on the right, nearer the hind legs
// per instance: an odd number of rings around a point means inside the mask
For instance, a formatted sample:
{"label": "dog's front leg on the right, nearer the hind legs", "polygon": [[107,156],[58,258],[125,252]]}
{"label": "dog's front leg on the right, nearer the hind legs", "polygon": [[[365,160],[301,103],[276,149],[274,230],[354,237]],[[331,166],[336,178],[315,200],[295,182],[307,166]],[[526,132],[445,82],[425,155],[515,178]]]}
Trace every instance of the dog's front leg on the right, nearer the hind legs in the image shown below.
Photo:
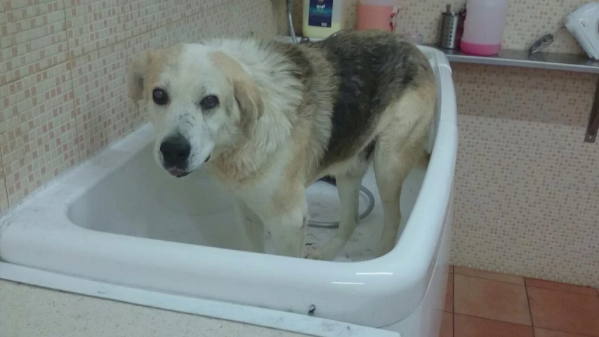
{"label": "dog's front leg on the right, nearer the hind legs", "polygon": [[305,226],[308,223],[308,204],[300,204],[285,211],[263,216],[265,228],[270,231],[275,253],[282,256],[303,258]]}

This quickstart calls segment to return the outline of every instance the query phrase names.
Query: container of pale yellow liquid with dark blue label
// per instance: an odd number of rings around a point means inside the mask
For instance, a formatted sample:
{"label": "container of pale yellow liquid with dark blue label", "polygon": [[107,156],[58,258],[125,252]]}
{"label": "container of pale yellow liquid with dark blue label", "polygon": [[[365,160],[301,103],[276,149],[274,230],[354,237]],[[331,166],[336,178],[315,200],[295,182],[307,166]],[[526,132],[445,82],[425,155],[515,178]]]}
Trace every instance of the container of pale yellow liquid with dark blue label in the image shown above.
{"label": "container of pale yellow liquid with dark blue label", "polygon": [[343,1],[303,0],[303,36],[324,39],[343,29]]}

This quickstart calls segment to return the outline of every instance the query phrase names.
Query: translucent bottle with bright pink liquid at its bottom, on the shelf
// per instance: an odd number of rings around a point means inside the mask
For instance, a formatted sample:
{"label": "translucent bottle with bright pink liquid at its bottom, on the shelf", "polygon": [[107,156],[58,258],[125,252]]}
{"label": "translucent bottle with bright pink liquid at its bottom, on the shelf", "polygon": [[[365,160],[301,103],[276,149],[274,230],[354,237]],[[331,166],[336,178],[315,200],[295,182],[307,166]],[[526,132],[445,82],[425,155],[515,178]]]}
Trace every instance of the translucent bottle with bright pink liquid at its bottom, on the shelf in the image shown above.
{"label": "translucent bottle with bright pink liquid at its bottom, on the shelf", "polygon": [[468,0],[461,51],[473,55],[499,53],[507,13],[507,0]]}

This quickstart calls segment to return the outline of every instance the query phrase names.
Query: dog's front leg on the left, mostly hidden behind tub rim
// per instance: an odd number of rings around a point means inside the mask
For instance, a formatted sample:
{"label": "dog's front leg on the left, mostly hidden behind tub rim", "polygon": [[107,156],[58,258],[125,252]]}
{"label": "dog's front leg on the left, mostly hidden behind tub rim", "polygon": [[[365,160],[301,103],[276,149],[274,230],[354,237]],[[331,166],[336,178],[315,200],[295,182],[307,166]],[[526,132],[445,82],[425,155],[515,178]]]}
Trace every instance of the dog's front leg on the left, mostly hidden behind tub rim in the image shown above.
{"label": "dog's front leg on the left, mostly hidden behind tub rim", "polygon": [[264,224],[262,220],[249,209],[244,201],[235,201],[237,226],[240,239],[240,249],[244,251],[264,252]]}

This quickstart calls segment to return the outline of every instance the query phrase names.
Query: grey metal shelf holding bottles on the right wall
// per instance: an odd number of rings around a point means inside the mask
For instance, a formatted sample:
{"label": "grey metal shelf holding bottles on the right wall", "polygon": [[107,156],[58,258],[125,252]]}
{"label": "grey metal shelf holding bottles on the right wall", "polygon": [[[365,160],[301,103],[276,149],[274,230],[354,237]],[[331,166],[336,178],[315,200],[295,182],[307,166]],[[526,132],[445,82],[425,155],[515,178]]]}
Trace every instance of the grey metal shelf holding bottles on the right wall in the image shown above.
{"label": "grey metal shelf holding bottles on the right wall", "polygon": [[526,67],[546,70],[564,70],[566,72],[586,72],[599,74],[599,62],[591,60],[586,55],[568,53],[534,53],[503,49],[499,55],[476,56],[468,55],[454,49],[445,49],[428,44],[439,49],[449,62],[475,63],[478,65],[506,65],[510,67]]}

